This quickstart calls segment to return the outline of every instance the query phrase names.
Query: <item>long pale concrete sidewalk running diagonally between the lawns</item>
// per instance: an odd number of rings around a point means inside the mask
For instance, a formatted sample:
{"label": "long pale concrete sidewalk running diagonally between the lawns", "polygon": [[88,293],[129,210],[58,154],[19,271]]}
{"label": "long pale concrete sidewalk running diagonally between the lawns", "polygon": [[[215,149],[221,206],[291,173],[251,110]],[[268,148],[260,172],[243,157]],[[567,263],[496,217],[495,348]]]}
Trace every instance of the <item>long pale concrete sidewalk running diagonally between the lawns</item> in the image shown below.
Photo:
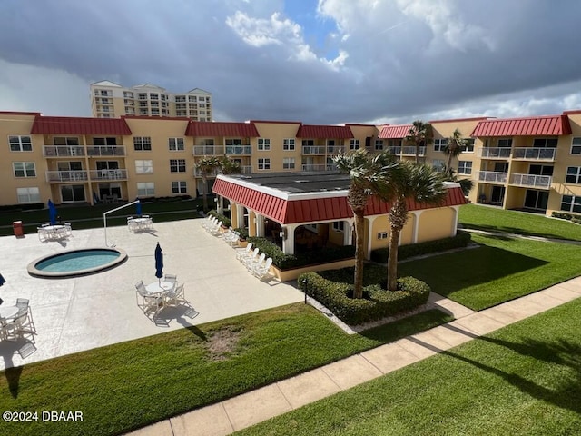
{"label": "long pale concrete sidewalk running diagonally between the lawns", "polygon": [[310,402],[350,389],[365,381],[478,336],[545,312],[581,297],[581,277],[546,290],[473,312],[433,295],[430,302],[457,318],[426,332],[355,354],[339,362],[278,381],[256,391],[190,411],[130,433],[132,436],[218,436],[230,434]]}

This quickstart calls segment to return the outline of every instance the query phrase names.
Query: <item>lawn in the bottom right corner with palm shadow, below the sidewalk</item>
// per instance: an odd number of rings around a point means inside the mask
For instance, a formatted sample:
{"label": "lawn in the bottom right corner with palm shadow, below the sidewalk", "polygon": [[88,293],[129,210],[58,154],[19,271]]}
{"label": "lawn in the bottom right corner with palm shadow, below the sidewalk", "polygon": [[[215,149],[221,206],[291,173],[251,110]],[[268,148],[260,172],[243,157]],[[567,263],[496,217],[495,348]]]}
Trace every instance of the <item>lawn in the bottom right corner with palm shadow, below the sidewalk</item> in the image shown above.
{"label": "lawn in the bottom right corner with palm shadow, below the sidewalk", "polygon": [[244,431],[581,434],[581,299]]}

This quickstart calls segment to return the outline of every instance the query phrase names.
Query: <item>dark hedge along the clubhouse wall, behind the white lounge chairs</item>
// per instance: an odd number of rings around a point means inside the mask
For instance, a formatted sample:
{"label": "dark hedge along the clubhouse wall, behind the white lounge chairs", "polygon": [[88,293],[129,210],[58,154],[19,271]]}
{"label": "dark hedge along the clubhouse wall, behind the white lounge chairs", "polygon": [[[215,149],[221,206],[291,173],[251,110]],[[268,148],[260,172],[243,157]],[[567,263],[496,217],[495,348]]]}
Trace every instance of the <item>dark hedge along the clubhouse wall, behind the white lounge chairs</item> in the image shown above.
{"label": "dark hedge along the clubhouse wall, behind the white lounge chairs", "polygon": [[281,247],[266,238],[253,236],[248,238],[248,242],[258,248],[260,253],[264,253],[267,258],[271,257],[272,264],[281,270],[290,270],[292,268],[317,263],[340,261],[355,256],[355,247],[353,245],[320,248],[300,254],[285,254],[282,253]]}

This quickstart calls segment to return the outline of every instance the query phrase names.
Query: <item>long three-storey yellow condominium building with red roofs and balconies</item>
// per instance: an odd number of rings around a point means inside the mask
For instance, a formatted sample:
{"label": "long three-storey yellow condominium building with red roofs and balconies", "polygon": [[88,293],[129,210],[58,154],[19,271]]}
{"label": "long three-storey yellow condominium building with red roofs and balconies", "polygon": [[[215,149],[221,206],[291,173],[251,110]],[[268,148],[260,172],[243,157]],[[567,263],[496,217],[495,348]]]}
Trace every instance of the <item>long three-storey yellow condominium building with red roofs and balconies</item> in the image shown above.
{"label": "long three-storey yellow condominium building with red roofs and balconies", "polygon": [[468,194],[472,203],[581,213],[581,111],[430,124],[433,143],[416,150],[405,142],[410,124],[217,123],[181,116],[1,112],[0,138],[6,142],[0,152],[5,186],[0,205],[195,197],[203,189],[196,163],[207,155],[227,155],[249,176],[333,171],[332,156],[358,148],[387,149],[399,159],[416,159],[418,151],[421,162],[442,169],[447,138],[458,129],[468,141],[451,167],[458,178],[474,182]]}

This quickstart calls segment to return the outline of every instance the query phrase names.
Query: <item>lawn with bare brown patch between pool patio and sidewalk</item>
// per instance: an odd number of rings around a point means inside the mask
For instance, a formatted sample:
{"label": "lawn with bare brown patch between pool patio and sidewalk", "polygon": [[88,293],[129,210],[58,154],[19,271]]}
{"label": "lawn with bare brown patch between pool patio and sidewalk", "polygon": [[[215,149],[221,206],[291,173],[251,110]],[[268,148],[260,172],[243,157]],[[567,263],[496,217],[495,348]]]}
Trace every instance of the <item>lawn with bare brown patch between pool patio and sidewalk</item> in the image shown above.
{"label": "lawn with bare brown patch between pool patio and sidewalk", "polygon": [[292,304],[11,368],[0,410],[82,411],[84,421],[4,422],[2,432],[119,434],[448,321],[429,311],[348,335]]}

